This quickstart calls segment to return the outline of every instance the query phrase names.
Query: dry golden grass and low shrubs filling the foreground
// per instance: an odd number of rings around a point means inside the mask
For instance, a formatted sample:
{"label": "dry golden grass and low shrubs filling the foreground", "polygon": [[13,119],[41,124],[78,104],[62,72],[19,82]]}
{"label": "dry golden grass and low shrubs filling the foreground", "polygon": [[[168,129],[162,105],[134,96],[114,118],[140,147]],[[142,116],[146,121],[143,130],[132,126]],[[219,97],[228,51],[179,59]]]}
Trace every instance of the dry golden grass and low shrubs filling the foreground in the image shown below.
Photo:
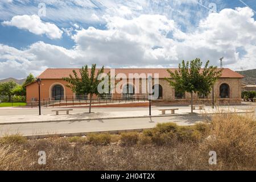
{"label": "dry golden grass and low shrubs filling the foreground", "polygon": [[[38,151],[46,165],[38,164]],[[208,163],[217,152],[217,165]],[[143,133],[91,134],[26,140],[0,139],[1,170],[255,170],[256,124],[252,115],[214,115],[211,123],[164,123]]]}

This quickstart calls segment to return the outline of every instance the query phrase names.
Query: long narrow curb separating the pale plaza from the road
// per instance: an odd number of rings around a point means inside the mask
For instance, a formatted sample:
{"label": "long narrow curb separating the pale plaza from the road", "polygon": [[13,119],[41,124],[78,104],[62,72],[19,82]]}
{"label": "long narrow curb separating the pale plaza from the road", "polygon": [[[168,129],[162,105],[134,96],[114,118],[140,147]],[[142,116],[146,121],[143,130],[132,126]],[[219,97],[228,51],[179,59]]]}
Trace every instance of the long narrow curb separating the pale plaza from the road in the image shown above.
{"label": "long narrow curb separating the pale plaza from the road", "polygon": [[208,114],[164,114],[164,115],[142,115],[134,117],[108,117],[108,118],[81,118],[81,119],[62,119],[62,120],[48,120],[48,121],[18,121],[18,122],[2,122],[0,125],[15,125],[15,124],[28,124],[28,123],[49,123],[49,122],[73,122],[73,121],[92,121],[102,119],[129,119],[129,118],[155,118],[155,117],[170,117],[170,116],[184,116],[184,115],[214,115],[214,114],[243,114],[243,113],[254,113],[254,111],[241,111],[233,113],[208,113]]}

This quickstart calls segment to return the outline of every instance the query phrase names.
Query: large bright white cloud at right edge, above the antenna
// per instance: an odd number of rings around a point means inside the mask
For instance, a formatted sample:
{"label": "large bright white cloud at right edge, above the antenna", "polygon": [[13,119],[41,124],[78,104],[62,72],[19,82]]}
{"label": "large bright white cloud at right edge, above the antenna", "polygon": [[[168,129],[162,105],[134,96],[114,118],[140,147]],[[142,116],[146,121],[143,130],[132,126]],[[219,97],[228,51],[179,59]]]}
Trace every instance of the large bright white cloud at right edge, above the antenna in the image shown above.
{"label": "large bright white cloud at right edge, above the antenna", "polygon": [[[224,56],[224,65],[237,69],[238,65],[245,65],[246,56],[239,57],[237,48],[255,50],[256,22],[252,18],[253,11],[248,7],[237,10],[224,9],[220,13],[212,13],[206,19],[201,20],[197,31],[191,34],[178,35],[183,42],[179,43],[178,55],[181,59],[201,57],[218,64],[218,59]],[[253,56],[254,55],[254,56]],[[247,68],[256,67],[255,53],[251,51],[250,65]]]}

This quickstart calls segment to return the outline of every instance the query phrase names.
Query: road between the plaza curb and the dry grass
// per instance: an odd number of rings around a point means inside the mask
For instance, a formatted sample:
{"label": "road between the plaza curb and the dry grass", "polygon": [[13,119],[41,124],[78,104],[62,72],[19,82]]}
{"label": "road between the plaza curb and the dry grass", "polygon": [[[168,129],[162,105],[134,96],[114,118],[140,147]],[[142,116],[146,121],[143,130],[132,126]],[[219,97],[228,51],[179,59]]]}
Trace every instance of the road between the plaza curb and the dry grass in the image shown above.
{"label": "road between the plaza curb and the dry grass", "polygon": [[1,125],[0,135],[22,134],[42,135],[59,133],[83,133],[93,131],[112,131],[145,129],[154,127],[156,123],[175,122],[178,125],[193,125],[197,121],[204,120],[203,116],[185,115],[172,117],[148,117],[127,119],[101,119],[76,122],[49,122],[49,123],[24,123],[15,125]]}

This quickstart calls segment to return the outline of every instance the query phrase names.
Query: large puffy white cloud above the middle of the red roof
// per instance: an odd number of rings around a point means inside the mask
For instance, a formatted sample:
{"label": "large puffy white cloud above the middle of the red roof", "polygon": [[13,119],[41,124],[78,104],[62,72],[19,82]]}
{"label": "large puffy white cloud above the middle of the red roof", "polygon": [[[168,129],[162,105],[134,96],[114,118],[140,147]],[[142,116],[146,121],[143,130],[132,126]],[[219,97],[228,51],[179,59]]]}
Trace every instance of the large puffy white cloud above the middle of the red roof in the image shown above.
{"label": "large puffy white cloud above the middle of the red roof", "polygon": [[175,30],[175,23],[166,16],[141,15],[131,20],[106,16],[105,19],[107,30],[89,27],[77,31],[73,36],[77,52],[116,67],[157,61],[170,64],[169,60],[177,60],[174,41],[166,38],[168,32]]}

